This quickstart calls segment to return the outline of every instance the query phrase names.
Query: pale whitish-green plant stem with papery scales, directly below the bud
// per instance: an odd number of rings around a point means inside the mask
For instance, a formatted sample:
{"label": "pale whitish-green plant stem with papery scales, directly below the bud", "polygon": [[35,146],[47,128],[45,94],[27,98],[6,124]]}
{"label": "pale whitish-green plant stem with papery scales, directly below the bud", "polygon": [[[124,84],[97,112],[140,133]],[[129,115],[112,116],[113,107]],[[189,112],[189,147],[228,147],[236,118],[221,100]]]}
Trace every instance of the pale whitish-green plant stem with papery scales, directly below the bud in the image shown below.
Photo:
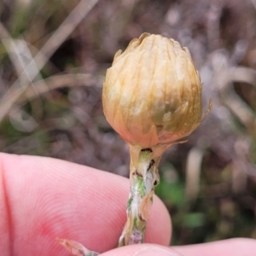
{"label": "pale whitish-green plant stem with papery scales, directly below the bud", "polygon": [[127,221],[119,238],[119,247],[143,243],[154,187],[160,182],[158,165],[166,145],[141,148],[129,144],[131,190],[127,202]]}

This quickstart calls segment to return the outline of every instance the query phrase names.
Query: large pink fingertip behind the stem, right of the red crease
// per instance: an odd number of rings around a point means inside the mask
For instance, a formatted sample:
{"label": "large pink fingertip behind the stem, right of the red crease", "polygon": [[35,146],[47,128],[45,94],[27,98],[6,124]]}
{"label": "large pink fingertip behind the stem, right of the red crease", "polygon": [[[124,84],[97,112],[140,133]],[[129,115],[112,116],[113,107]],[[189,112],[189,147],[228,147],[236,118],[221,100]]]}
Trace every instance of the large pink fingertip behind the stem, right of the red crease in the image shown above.
{"label": "large pink fingertip behind the stem, right of the red crease", "polygon": [[[126,221],[129,179],[64,160],[11,154],[0,157],[17,250],[27,241],[34,248],[27,247],[24,253],[62,255],[56,236],[99,252],[116,247]],[[168,245],[170,237],[169,214],[154,196],[145,241]]]}

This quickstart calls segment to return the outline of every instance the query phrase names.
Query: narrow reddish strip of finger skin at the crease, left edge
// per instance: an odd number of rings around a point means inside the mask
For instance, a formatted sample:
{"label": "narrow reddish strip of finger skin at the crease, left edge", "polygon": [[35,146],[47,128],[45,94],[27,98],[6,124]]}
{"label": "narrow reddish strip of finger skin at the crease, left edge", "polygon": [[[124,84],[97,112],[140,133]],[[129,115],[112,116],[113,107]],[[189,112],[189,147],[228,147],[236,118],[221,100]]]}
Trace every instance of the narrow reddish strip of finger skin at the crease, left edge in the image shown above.
{"label": "narrow reddish strip of finger skin at the crease, left edge", "polygon": [[[15,255],[14,250],[12,247],[13,242],[13,221],[12,221],[12,211],[10,207],[10,201],[9,201],[9,195],[8,195],[8,188],[6,185],[6,178],[4,175],[4,165],[3,165],[3,156],[0,156],[0,179],[2,183],[2,191],[0,192],[0,199],[3,202],[2,207],[0,208],[0,218],[2,218],[2,224],[3,224],[3,233],[1,237],[1,243],[0,248],[2,247],[2,252],[8,252],[8,254],[5,255]],[[1,198],[2,197],[2,198]],[[1,226],[0,226],[1,227]],[[1,228],[1,230],[2,230]]]}

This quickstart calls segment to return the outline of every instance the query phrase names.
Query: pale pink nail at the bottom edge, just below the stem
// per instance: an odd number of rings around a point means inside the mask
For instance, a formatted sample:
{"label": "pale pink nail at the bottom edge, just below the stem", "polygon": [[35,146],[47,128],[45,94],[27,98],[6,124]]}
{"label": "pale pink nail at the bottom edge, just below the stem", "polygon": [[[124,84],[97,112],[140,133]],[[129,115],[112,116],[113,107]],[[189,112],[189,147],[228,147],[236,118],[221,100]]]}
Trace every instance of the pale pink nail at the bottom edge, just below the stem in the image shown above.
{"label": "pale pink nail at the bottom edge, just below the stem", "polygon": [[181,253],[168,247],[147,246],[141,248],[132,256],[183,256]]}

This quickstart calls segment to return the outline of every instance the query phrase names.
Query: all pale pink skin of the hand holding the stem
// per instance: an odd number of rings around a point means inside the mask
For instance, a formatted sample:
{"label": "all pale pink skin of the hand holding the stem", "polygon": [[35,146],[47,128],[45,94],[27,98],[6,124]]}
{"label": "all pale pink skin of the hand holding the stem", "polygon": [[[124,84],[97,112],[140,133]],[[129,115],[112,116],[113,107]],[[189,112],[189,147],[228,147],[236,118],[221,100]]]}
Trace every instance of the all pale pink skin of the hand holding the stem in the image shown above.
{"label": "all pale pink skin of the hand holding the stem", "polygon": [[[156,196],[146,243],[115,248],[126,220],[128,179],[44,157],[0,154],[0,163],[2,255],[70,255],[56,236],[79,241],[102,256],[178,255],[168,247],[171,219]],[[184,256],[253,256],[256,241],[239,238],[173,248]]]}

